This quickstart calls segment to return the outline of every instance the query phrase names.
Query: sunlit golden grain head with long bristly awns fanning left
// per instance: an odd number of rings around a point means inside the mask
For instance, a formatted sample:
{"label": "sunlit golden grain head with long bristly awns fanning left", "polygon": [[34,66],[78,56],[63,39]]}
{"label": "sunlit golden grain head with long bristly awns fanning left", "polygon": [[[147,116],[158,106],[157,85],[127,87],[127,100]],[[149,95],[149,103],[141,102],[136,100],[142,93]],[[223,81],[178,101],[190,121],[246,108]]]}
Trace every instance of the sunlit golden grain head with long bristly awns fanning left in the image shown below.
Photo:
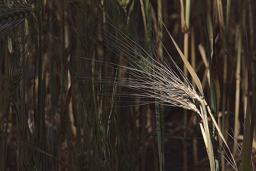
{"label": "sunlit golden grain head with long bristly awns fanning left", "polygon": [[155,48],[154,53],[151,54],[121,30],[114,28],[118,33],[118,38],[106,30],[106,33],[101,32],[104,34],[104,44],[127,63],[126,66],[122,64],[114,64],[114,66],[131,76],[130,78],[116,79],[117,85],[138,90],[137,93],[132,94],[133,96],[158,98],[165,104],[200,113],[194,101],[195,99],[200,101],[200,95],[192,87],[170,54],[167,53],[172,67],[166,60],[162,62],[158,60],[159,58],[164,59],[164,56],[158,53],[154,44],[152,46]]}

